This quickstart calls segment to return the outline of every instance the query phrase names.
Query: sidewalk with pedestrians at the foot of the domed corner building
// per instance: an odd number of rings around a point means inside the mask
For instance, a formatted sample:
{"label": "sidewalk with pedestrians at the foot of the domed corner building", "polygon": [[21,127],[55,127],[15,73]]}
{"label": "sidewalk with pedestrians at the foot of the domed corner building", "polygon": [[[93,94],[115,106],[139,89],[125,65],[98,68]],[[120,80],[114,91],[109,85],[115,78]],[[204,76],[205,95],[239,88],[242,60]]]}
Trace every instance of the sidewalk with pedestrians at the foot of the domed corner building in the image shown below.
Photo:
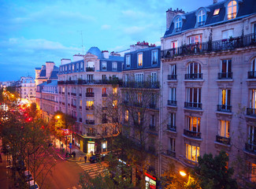
{"label": "sidewalk with pedestrians at the foot of the domed corner building", "polygon": [[[61,143],[62,144],[62,143]],[[65,149],[64,152],[63,150],[60,150],[61,147],[60,147],[60,141],[58,139],[56,139],[56,146],[55,146],[55,149],[56,151],[58,152],[59,154],[59,157],[61,159],[65,159],[67,161],[74,161],[74,162],[79,162],[79,161],[84,161],[84,156],[87,156],[87,161],[88,159],[91,157],[91,154],[86,154],[86,153],[83,153],[83,151],[81,151],[80,149],[78,149],[76,146],[72,146],[71,148],[71,154],[72,152],[76,152],[76,158],[72,158],[72,157],[69,157],[69,158],[66,158],[65,157],[65,154],[66,152],[68,151],[70,153],[70,148],[69,148],[69,145],[67,147],[67,151],[66,151],[66,145],[65,143],[63,143],[63,148]]]}

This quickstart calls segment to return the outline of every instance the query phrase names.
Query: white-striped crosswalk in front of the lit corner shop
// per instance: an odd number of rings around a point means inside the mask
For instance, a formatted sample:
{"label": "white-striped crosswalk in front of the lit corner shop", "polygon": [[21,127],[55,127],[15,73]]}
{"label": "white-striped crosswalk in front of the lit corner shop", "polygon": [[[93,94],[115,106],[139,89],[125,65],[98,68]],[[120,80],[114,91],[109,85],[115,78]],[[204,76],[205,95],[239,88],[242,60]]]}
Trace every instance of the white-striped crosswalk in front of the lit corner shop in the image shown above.
{"label": "white-striped crosswalk in front of the lit corner shop", "polygon": [[101,165],[100,163],[84,163],[84,162],[76,162],[78,165],[80,165],[80,167],[84,170],[87,171],[89,176],[91,176],[91,178],[95,178],[98,174],[102,173],[102,172],[106,172],[107,169],[104,165]]}

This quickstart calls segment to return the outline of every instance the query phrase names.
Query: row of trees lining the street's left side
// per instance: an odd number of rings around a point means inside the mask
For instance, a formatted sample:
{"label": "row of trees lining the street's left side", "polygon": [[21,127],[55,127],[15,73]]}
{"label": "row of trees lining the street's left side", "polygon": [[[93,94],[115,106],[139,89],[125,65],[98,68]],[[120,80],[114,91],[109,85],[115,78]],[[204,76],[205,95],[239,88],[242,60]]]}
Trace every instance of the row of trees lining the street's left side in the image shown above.
{"label": "row of trees lining the street's left side", "polygon": [[43,186],[46,176],[56,164],[53,157],[57,156],[51,147],[50,130],[43,120],[36,117],[36,104],[19,106],[17,96],[3,91],[0,109],[0,127],[2,148],[9,159],[12,170],[13,185],[26,188],[24,170],[32,172],[34,180]]}

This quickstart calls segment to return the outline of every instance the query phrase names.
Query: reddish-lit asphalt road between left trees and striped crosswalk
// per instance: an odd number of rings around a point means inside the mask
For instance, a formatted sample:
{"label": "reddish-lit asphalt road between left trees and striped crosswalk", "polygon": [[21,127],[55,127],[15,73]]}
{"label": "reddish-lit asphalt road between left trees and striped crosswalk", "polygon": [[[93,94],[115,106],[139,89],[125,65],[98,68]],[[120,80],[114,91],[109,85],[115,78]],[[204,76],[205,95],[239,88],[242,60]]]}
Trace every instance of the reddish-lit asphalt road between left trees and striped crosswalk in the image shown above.
{"label": "reddish-lit asphalt road between left trees and striped crosswalk", "polygon": [[51,174],[46,177],[43,186],[39,187],[46,189],[80,188],[78,185],[82,172],[83,169],[76,162],[60,160],[52,169]]}

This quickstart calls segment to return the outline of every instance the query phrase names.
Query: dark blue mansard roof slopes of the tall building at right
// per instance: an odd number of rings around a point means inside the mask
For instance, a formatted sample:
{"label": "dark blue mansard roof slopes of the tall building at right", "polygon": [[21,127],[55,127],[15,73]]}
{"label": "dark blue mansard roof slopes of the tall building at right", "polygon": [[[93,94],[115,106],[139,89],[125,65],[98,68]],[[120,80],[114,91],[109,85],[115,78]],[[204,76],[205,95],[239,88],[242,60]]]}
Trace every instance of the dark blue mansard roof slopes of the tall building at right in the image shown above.
{"label": "dark blue mansard roof slopes of the tall building at right", "polygon": [[[225,0],[225,1],[213,4],[213,5],[210,5],[210,6],[206,6],[206,9],[210,9],[210,13],[208,13],[208,15],[207,15],[206,24],[203,25],[202,27],[198,27],[198,28],[203,28],[205,26],[210,26],[210,25],[214,25],[214,24],[224,24],[226,22],[233,21],[233,20],[239,20],[243,17],[247,17],[247,16],[250,16],[251,14],[256,13],[256,1],[255,0],[239,0],[240,1],[238,4],[239,9],[238,9],[236,18],[234,18],[232,20],[224,20],[224,16],[225,16],[225,12],[226,12],[226,7],[224,5],[228,1],[229,0]],[[215,9],[220,9],[220,13],[216,16],[213,16],[213,12]],[[182,14],[186,17],[186,19],[183,21],[182,28],[181,28],[180,32],[173,32],[174,24],[172,22],[169,27],[169,30],[165,31],[164,37],[169,37],[171,35],[178,35],[183,31],[194,29],[196,20],[197,20],[195,13],[197,11],[198,11],[198,9],[196,9],[195,11],[192,11],[190,13]]]}

